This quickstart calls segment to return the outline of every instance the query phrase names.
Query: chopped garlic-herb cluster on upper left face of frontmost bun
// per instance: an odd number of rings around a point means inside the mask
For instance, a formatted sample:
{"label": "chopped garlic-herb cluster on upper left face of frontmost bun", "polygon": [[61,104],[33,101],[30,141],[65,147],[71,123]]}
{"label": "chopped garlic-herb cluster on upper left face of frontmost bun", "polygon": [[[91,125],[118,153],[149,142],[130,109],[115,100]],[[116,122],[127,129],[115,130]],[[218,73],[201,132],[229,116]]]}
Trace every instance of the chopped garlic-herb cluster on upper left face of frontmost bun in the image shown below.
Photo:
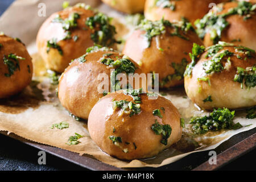
{"label": "chopped garlic-herb cluster on upper left face of frontmost bun", "polygon": [[124,113],[130,114],[130,117],[132,117],[134,114],[141,113],[141,105],[140,104],[134,104],[133,102],[129,101],[113,101],[113,109],[121,108]]}

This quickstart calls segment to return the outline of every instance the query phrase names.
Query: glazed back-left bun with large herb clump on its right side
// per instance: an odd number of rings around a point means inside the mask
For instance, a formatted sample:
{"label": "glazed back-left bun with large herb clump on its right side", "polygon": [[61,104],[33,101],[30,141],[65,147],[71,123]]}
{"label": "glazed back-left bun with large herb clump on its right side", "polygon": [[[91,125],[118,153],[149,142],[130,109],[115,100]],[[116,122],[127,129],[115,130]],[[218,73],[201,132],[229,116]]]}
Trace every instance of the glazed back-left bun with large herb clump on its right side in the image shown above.
{"label": "glazed back-left bun with large herb clump on its right side", "polygon": [[[52,14],[40,27],[36,44],[46,67],[64,72],[72,59],[96,44],[113,46],[115,27],[109,18],[78,4]],[[104,28],[102,28],[104,26]]]}

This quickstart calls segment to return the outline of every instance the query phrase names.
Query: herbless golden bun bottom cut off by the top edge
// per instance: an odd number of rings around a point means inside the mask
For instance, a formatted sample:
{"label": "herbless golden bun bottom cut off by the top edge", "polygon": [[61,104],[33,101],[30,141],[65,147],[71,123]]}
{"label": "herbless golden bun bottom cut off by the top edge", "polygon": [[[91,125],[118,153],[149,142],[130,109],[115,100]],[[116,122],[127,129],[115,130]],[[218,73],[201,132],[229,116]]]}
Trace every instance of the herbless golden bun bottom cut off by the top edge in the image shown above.
{"label": "herbless golden bun bottom cut off by the top edge", "polygon": [[102,0],[102,2],[114,9],[129,14],[143,12],[145,1],[146,0]]}

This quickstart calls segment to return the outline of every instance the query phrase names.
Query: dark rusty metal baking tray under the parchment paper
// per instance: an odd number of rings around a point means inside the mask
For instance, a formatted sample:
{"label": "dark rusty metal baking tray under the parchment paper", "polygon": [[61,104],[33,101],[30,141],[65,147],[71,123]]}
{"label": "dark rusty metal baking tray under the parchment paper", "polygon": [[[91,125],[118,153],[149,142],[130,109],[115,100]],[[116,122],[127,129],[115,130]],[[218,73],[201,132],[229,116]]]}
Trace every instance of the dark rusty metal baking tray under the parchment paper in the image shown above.
{"label": "dark rusty metal baking tray under the parchment paper", "polygon": [[178,160],[177,162],[168,164],[159,168],[117,168],[100,162],[97,159],[94,159],[89,155],[76,154],[75,152],[63,150],[61,148],[56,148],[48,146],[45,144],[40,144],[36,142],[31,142],[30,140],[19,137],[13,133],[7,134],[6,131],[0,131],[1,134],[19,140],[20,142],[26,143],[29,146],[38,148],[48,152],[49,154],[55,155],[61,159],[68,160],[71,163],[75,163],[81,167],[90,169],[90,170],[100,170],[100,171],[123,171],[123,170],[217,170],[226,164],[236,160],[242,155],[245,155],[247,152],[250,152],[256,147],[256,128],[245,131],[234,135],[229,140],[226,140],[220,146],[218,146],[214,151],[217,153],[217,164],[210,165],[208,163],[209,151],[197,152],[186,156],[183,159]]}

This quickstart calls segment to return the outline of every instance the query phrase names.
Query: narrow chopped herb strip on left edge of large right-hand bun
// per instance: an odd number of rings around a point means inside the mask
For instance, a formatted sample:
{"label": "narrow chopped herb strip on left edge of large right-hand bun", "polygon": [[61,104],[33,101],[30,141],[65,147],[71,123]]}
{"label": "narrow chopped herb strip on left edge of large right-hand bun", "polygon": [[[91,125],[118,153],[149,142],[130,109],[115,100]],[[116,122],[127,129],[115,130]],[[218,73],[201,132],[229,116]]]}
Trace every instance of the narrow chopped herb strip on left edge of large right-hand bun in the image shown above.
{"label": "narrow chopped herb strip on left edge of large right-hand bun", "polygon": [[195,67],[197,60],[199,60],[199,57],[204,51],[205,51],[204,46],[199,46],[198,44],[193,43],[192,53],[189,53],[189,56],[192,62],[187,65],[187,68],[184,72],[184,76],[189,76],[189,77],[191,76],[192,69]]}

